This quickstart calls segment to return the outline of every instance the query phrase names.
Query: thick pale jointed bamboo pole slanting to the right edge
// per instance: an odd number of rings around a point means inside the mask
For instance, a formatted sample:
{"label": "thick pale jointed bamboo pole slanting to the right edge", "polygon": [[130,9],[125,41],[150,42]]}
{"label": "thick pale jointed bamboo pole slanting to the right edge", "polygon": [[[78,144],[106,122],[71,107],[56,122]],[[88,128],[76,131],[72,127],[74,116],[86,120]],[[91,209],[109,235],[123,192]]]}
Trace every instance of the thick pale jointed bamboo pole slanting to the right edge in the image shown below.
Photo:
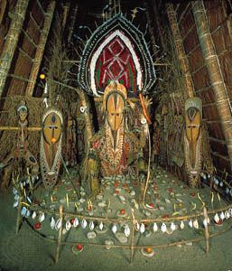
{"label": "thick pale jointed bamboo pole slanting to the right edge", "polygon": [[232,108],[227,95],[227,87],[220,69],[215,45],[209,31],[209,23],[204,4],[202,1],[194,1],[191,5],[200,39],[202,54],[207,64],[209,79],[212,89],[214,90],[220,123],[227,142],[227,152],[232,169]]}

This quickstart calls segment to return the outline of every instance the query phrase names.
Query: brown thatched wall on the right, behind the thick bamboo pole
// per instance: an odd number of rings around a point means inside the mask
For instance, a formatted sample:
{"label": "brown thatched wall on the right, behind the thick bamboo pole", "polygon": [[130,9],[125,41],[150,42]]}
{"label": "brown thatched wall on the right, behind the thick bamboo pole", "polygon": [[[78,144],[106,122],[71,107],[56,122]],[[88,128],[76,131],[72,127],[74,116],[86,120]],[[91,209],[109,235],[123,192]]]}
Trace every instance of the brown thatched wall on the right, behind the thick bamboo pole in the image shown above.
{"label": "brown thatched wall on the right, behind the thick bamboo pole", "polygon": [[[209,29],[218,54],[218,61],[222,71],[227,94],[232,102],[232,48],[231,48],[231,6],[229,1],[205,1],[209,20]],[[211,155],[218,173],[226,169],[231,174],[230,162],[227,154],[227,145],[216,107],[216,99],[210,85],[209,71],[207,70],[194,17],[190,3],[175,5],[177,19],[181,31],[181,38],[190,62],[190,73],[194,83],[196,95],[203,101],[203,119],[209,129]],[[230,11],[230,12],[229,12]],[[229,26],[230,25],[230,26]]]}

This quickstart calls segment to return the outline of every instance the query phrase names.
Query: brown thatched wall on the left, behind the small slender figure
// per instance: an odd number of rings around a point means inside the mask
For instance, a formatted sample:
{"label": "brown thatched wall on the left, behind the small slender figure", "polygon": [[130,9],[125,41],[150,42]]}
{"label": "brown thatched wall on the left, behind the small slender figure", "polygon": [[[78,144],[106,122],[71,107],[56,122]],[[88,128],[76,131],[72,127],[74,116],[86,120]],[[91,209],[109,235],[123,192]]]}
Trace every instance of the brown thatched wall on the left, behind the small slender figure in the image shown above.
{"label": "brown thatched wall on the left, behind the small slender figure", "polygon": [[[9,14],[11,16],[11,13],[14,13],[15,3],[16,1],[13,0],[7,1],[7,11],[4,16],[3,24],[1,24],[2,36],[0,36],[0,53],[4,47],[1,37],[3,37],[9,29]],[[47,6],[47,1],[41,1],[41,5],[38,5],[38,3],[38,1],[29,2],[23,21],[23,27],[18,30],[20,32],[19,40],[6,79],[5,89],[0,98],[0,126],[18,126],[16,111],[22,99],[25,100],[29,108],[29,126],[41,125],[42,100],[37,98],[25,98],[25,90],[28,84],[27,80],[30,77],[32,60],[35,56],[36,46],[40,40],[45,15],[44,11]],[[16,134],[17,132],[14,131],[0,131],[0,160],[14,147]],[[35,154],[38,158],[40,133],[30,132],[28,140],[32,154]]]}

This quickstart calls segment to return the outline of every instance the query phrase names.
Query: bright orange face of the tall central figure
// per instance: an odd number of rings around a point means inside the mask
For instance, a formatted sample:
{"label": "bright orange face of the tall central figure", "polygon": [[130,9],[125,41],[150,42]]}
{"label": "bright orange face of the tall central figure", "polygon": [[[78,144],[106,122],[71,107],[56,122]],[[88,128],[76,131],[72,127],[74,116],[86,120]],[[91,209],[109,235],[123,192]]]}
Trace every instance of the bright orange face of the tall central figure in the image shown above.
{"label": "bright orange face of the tall central figure", "polygon": [[116,131],[124,119],[125,99],[113,91],[107,97],[107,122],[112,131]]}

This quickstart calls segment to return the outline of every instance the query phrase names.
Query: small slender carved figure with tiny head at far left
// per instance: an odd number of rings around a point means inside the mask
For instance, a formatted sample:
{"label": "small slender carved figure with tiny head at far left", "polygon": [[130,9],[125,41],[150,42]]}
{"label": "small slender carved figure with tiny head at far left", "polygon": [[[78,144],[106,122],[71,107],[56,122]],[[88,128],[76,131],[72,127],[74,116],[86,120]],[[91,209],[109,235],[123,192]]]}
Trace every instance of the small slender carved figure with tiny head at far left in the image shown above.
{"label": "small slender carved figure with tiny head at far left", "polygon": [[[16,147],[14,147],[10,154],[8,154],[5,159],[0,163],[0,169],[6,168],[7,166],[14,166],[16,167],[16,170],[18,172],[23,172],[23,168],[29,168],[31,167],[32,175],[37,175],[39,171],[39,165],[32,153],[28,149],[28,108],[25,106],[24,101],[21,102],[19,107],[17,108],[17,114],[19,117],[18,125],[20,127],[19,132],[16,137]],[[21,169],[20,169],[21,168]],[[9,171],[9,173],[11,170]],[[25,172],[26,173],[26,172]],[[5,179],[3,178],[3,182],[1,184],[1,188],[5,189],[9,182],[10,182],[10,176]]]}

